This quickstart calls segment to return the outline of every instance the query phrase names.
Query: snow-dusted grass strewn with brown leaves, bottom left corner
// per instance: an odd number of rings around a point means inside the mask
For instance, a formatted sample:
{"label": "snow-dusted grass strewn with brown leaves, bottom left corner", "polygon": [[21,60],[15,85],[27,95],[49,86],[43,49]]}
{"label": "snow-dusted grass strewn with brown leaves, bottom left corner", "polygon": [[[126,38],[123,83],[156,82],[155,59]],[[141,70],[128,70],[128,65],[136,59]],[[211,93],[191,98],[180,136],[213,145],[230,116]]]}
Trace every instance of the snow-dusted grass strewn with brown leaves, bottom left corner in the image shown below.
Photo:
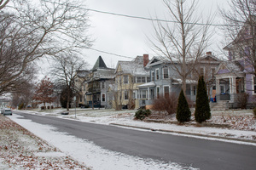
{"label": "snow-dusted grass strewn with brown leaves, bottom left corner", "polygon": [[87,169],[6,116],[0,129],[0,169]]}

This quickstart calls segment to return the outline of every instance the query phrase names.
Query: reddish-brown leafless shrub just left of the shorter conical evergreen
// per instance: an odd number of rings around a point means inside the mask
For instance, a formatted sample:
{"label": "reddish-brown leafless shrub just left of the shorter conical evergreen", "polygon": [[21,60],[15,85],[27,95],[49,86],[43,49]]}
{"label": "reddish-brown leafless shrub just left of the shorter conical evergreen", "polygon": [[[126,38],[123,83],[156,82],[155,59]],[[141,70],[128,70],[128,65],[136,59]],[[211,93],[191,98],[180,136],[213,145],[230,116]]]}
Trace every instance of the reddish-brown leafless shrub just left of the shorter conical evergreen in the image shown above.
{"label": "reddish-brown leafless shrub just left of the shorter conical evergreen", "polygon": [[152,110],[166,111],[168,115],[172,115],[177,111],[177,95],[172,93],[169,98],[154,99]]}

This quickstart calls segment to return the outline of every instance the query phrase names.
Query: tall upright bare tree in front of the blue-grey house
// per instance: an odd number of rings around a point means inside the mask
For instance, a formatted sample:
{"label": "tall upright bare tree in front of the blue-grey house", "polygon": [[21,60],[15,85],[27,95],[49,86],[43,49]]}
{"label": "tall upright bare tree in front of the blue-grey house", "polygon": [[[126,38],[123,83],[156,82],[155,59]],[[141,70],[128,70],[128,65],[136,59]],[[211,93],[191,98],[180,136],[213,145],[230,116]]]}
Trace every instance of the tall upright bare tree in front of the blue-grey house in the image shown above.
{"label": "tall upright bare tree in front of the blue-grey house", "polygon": [[195,0],[163,0],[172,22],[158,21],[154,25],[155,37],[149,42],[156,54],[171,61],[177,77],[182,79],[186,91],[186,79],[195,68],[195,63],[207,47],[212,34],[209,26],[212,18],[204,23],[202,15],[196,14]]}

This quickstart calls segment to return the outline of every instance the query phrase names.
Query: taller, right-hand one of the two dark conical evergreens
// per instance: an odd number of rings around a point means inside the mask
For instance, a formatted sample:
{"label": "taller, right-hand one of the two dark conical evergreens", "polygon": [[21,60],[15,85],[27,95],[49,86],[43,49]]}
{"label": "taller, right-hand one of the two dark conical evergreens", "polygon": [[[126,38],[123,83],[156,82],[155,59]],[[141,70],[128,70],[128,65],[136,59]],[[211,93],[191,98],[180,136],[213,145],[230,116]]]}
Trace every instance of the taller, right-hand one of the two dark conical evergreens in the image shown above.
{"label": "taller, right-hand one of the two dark conical evergreens", "polygon": [[201,76],[198,80],[197,94],[195,101],[195,121],[205,122],[211,118],[211,110],[209,105],[209,99],[207,95],[206,83],[204,77]]}

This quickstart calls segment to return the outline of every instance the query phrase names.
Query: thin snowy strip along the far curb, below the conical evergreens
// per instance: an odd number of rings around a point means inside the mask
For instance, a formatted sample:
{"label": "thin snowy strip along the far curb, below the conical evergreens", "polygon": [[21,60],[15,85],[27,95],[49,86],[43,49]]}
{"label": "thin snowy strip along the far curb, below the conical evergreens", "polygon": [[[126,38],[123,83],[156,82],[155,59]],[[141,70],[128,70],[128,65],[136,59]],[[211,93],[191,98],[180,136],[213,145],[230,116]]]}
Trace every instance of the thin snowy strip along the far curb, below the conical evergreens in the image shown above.
{"label": "thin snowy strip along the far curb, below the conical evergreens", "polygon": [[180,131],[174,131],[174,130],[154,129],[154,128],[149,128],[149,127],[137,127],[137,126],[124,125],[124,124],[119,124],[119,123],[110,123],[109,125],[119,126],[119,127],[139,128],[139,129],[143,129],[143,130],[158,131],[158,132],[163,132],[163,133],[179,133],[179,134],[187,134],[187,135],[194,135],[194,136],[207,137],[207,138],[235,140],[235,141],[239,141],[239,142],[248,142],[248,143],[256,144],[255,140],[249,140],[249,139],[236,139],[236,138],[228,138],[228,137],[207,135],[207,134],[201,134],[201,133],[186,133],[186,132],[180,132]]}

